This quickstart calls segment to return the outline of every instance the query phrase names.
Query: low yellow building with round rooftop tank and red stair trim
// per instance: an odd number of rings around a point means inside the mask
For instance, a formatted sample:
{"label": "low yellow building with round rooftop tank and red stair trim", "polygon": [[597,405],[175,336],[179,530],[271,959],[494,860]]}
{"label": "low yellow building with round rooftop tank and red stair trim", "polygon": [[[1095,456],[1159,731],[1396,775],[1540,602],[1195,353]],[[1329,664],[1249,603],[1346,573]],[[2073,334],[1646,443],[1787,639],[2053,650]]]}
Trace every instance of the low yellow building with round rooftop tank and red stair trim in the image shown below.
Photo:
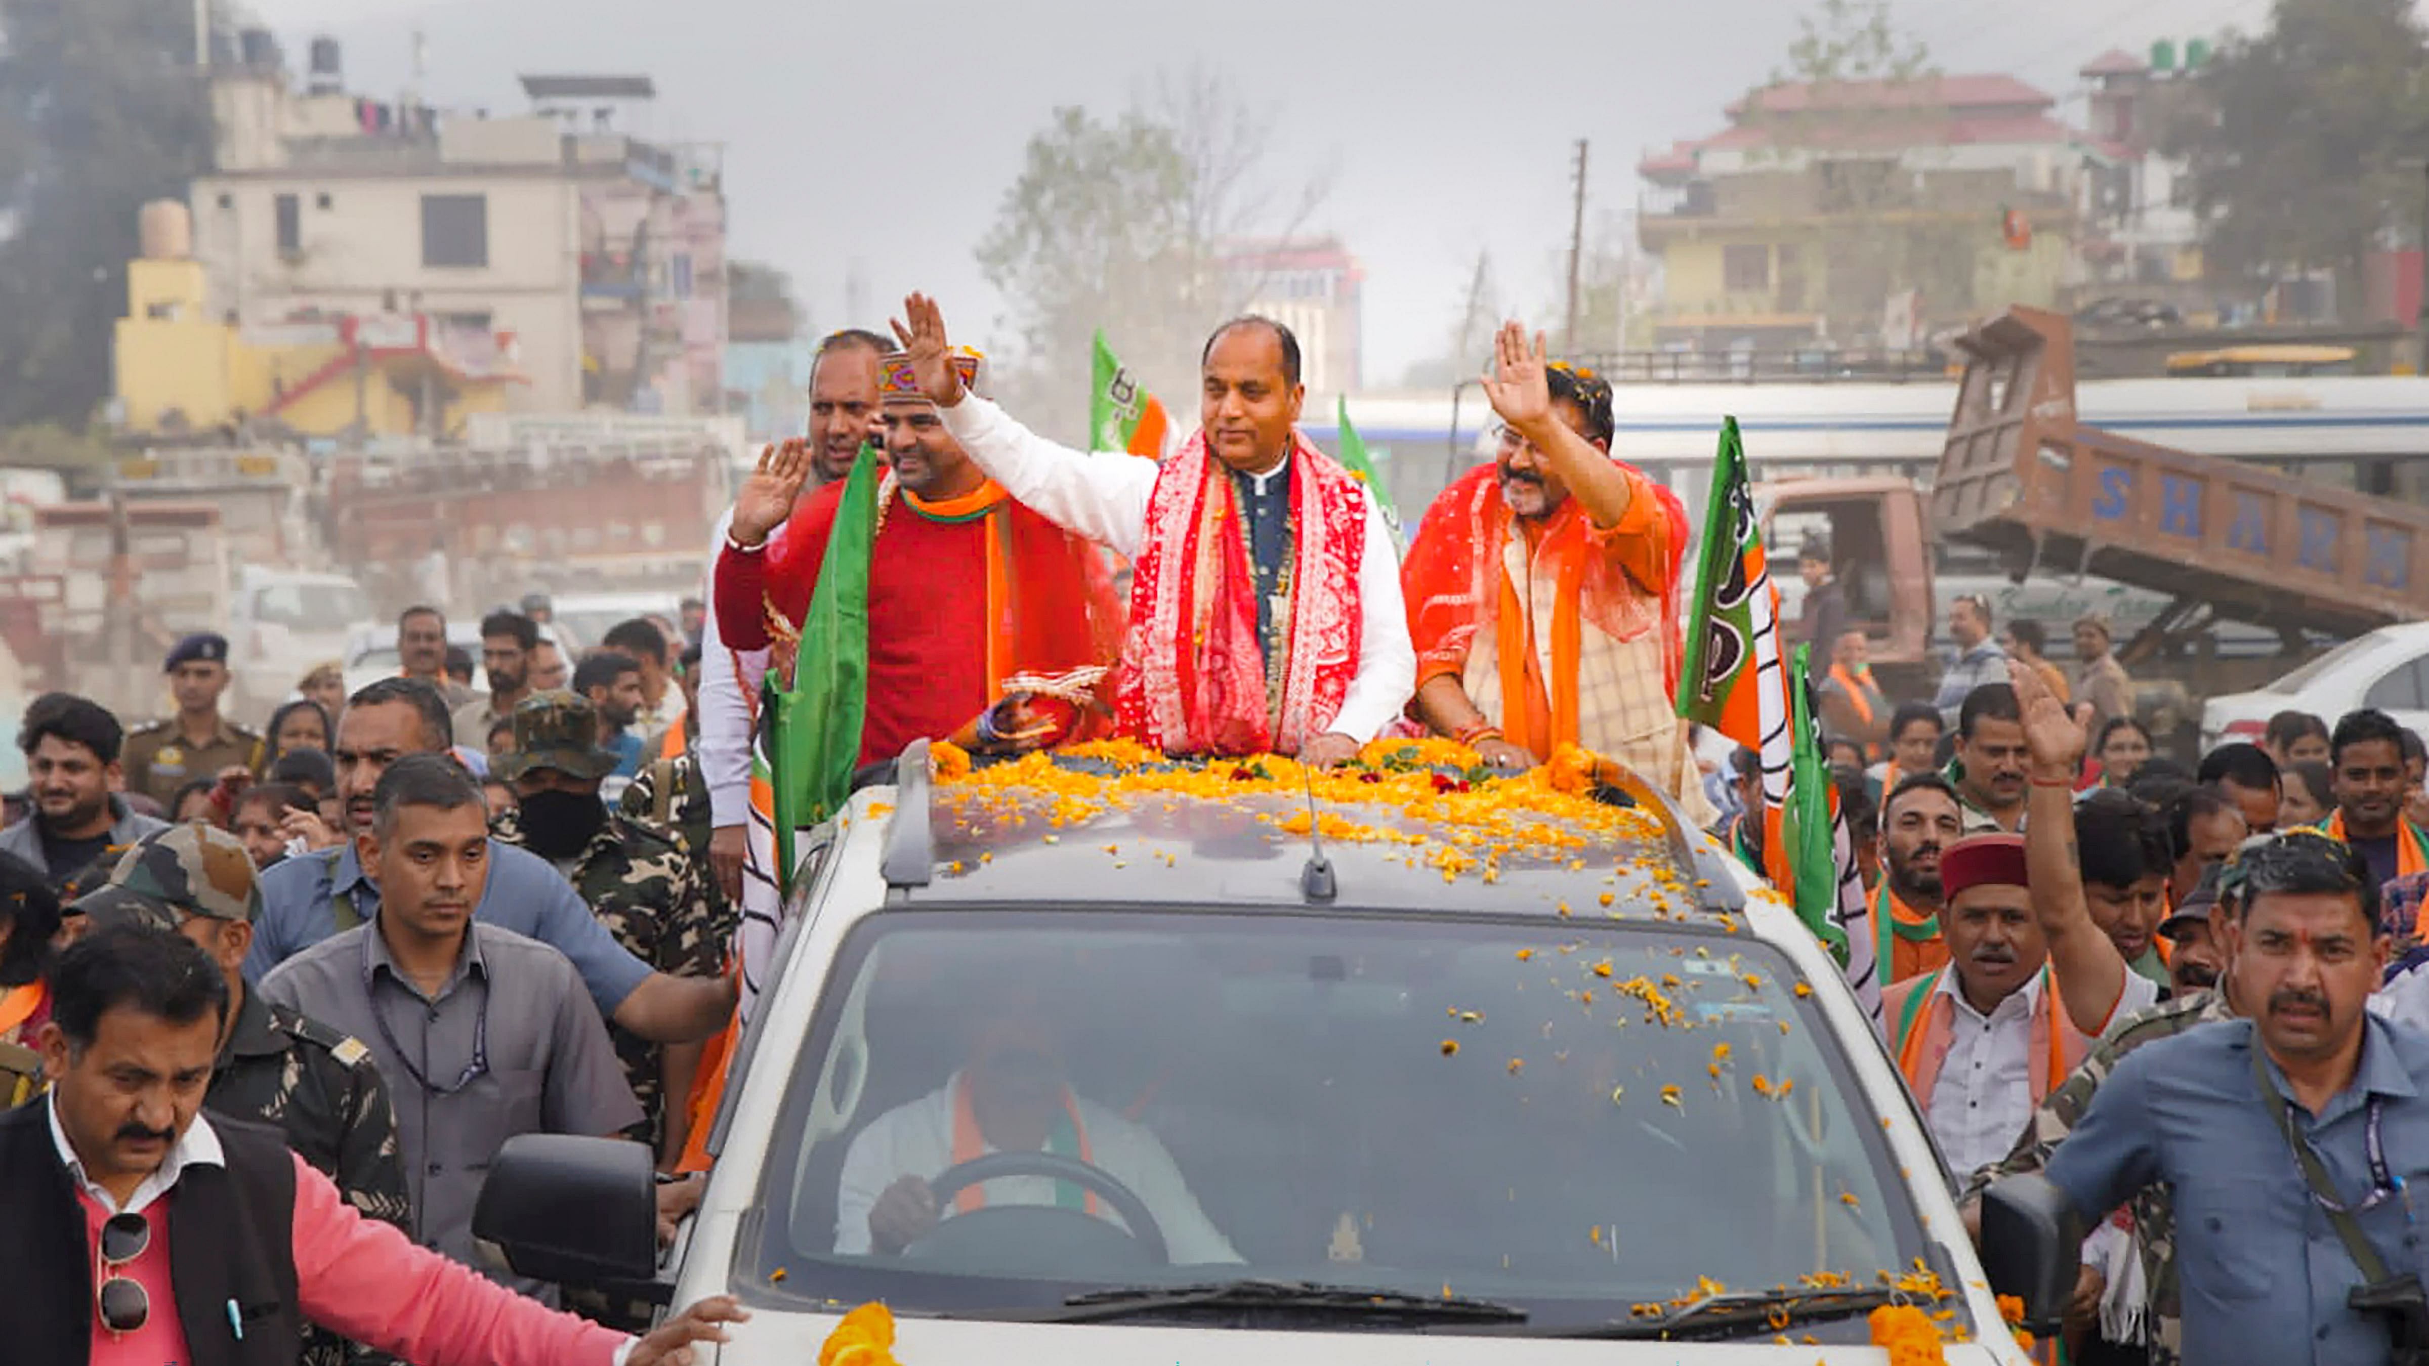
{"label": "low yellow building with round rooftop tank and red stair trim", "polygon": [[143,435],[277,423],[306,438],[452,438],[522,384],[513,338],[420,314],[238,328],[211,309],[175,202],[143,209],[114,362],[121,425]]}

